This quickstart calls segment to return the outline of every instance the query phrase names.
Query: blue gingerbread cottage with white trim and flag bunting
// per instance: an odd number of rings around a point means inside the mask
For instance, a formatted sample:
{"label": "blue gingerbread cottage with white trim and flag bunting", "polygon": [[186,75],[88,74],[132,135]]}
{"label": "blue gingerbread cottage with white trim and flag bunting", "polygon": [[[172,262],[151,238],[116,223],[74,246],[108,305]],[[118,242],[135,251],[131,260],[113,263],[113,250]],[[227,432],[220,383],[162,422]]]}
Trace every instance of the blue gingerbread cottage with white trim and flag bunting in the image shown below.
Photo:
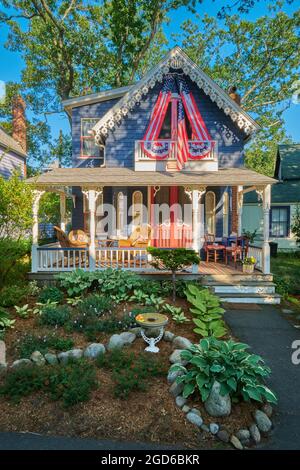
{"label": "blue gingerbread cottage with white trim and flag bunting", "polygon": [[[201,253],[205,234],[216,240],[241,234],[243,195],[249,191],[262,194],[268,226],[270,187],[276,180],[244,166],[244,146],[259,126],[239,98],[175,47],[134,85],[64,101],[72,122],[73,168],[28,180],[37,189],[34,220],[42,194],[57,191],[61,227],[65,199],[72,197],[72,229],[85,230],[90,239],[82,252],[63,238],[63,248],[38,247],[34,224],[32,272],[78,266],[153,271],[145,247],[133,243],[137,227],[151,227],[145,240],[151,245]],[[157,212],[158,205],[166,210]],[[255,256],[268,276],[267,232]],[[205,263],[201,269],[205,274]]]}

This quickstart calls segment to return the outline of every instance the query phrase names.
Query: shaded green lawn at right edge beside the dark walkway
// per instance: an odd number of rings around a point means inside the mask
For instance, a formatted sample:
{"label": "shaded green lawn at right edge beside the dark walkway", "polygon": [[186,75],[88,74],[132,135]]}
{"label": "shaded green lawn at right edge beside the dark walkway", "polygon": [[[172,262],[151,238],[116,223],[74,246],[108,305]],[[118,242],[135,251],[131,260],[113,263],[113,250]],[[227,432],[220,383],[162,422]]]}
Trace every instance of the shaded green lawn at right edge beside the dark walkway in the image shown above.
{"label": "shaded green lawn at right edge beside the dark walkway", "polygon": [[289,294],[300,295],[300,253],[278,253],[271,258],[271,272],[289,284]]}

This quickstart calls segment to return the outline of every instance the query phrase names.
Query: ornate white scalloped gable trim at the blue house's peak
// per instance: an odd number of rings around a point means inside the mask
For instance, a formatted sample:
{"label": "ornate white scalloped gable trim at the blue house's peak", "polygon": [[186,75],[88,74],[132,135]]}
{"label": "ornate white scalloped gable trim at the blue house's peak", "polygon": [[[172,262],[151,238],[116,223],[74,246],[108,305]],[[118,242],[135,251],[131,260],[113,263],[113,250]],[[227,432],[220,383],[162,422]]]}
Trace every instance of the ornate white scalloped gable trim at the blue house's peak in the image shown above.
{"label": "ornate white scalloped gable trim at the blue house's peak", "polygon": [[139,82],[130,87],[129,91],[116,103],[93,127],[96,142],[101,143],[102,136],[106,136],[116,124],[127,116],[129,111],[137,105],[143,95],[153,88],[158,81],[162,81],[169,69],[182,69],[183,72],[203,89],[224,113],[235,122],[245,134],[250,135],[258,130],[259,125],[233,101],[222,88],[193,62],[180,47],[174,47],[155,67],[153,67]]}

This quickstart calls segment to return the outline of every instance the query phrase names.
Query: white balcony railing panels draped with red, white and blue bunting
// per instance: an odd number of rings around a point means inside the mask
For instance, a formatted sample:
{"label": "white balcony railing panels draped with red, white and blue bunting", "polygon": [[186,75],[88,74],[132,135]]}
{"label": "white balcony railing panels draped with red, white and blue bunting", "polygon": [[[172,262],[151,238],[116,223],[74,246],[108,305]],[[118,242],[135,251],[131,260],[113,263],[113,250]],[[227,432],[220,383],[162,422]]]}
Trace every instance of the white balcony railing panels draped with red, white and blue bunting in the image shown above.
{"label": "white balcony railing panels draped with red, white and blue bunting", "polygon": [[[213,161],[217,158],[217,141],[189,140],[189,161]],[[178,142],[175,140],[137,140],[135,142],[135,161],[175,161]],[[202,156],[201,156],[202,155]],[[201,156],[201,158],[199,158]]]}

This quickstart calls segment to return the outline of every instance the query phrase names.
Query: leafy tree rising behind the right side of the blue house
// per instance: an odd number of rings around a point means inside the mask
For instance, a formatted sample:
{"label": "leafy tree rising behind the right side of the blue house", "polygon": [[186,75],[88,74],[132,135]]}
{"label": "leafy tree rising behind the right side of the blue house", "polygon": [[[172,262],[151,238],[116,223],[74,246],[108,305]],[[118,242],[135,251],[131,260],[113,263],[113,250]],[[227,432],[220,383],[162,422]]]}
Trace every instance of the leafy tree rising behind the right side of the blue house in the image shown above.
{"label": "leafy tree rising behind the right side of the blue house", "polygon": [[298,79],[300,11],[291,15],[272,7],[256,21],[226,16],[185,21],[176,38],[187,54],[223,89],[236,85],[242,107],[261,124],[246,151],[250,168],[272,175],[277,144],[287,142],[283,113]]}

